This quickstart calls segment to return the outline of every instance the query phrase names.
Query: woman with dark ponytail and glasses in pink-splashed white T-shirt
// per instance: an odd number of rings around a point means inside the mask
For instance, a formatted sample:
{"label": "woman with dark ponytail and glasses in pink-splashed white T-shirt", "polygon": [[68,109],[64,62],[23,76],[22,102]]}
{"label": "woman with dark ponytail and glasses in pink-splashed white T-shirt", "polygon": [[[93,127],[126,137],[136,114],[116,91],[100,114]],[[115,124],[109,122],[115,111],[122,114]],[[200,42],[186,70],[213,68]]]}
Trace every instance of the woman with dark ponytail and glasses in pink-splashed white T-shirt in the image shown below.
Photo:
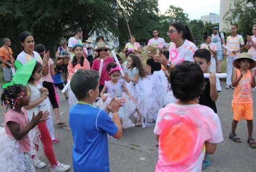
{"label": "woman with dark ponytail and glasses in pink-splashed white T-shirt", "polygon": [[176,64],[188,60],[194,62],[193,55],[196,48],[194,38],[188,26],[183,23],[174,22],[170,24],[168,32],[173,43],[169,47],[169,62],[163,54],[154,55],[154,60],[163,64],[171,71]]}

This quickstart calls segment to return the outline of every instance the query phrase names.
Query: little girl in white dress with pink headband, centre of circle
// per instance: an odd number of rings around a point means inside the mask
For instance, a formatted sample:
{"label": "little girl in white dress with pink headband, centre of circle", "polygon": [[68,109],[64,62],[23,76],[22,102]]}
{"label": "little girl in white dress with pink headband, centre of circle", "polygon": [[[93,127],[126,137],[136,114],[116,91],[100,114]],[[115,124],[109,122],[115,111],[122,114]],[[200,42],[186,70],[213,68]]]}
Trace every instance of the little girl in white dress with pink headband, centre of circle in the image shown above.
{"label": "little girl in white dress with pink headband, centre of circle", "polygon": [[[114,97],[121,98],[124,97],[122,94],[122,90],[125,91],[125,93],[129,96],[128,99],[136,100],[134,97],[132,97],[132,94],[129,92],[129,90],[126,88],[125,83],[120,79],[121,73],[117,64],[110,62],[107,64],[106,67],[107,72],[109,72],[110,80],[105,81],[104,88],[101,90],[100,97],[105,102],[105,104],[109,104],[111,99]],[[107,94],[104,94],[107,91]],[[129,100],[126,100],[126,102],[129,102]],[[123,120],[123,127],[132,127],[133,124],[131,120],[129,119],[130,114],[127,113],[128,110],[126,110],[126,103],[123,104],[123,107],[119,108],[119,118],[121,118],[121,122]]]}

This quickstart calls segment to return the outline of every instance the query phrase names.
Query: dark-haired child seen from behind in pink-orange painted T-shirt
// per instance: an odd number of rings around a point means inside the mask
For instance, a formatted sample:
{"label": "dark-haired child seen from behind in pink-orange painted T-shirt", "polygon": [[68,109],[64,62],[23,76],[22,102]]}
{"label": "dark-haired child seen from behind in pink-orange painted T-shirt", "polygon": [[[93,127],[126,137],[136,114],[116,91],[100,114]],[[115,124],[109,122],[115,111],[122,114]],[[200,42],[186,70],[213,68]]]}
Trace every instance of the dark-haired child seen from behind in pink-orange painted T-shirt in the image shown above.
{"label": "dark-haired child seen from behind in pink-orange painted T-shirt", "polygon": [[198,104],[204,74],[192,62],[177,64],[170,75],[176,103],[159,110],[154,133],[159,141],[155,171],[201,171],[205,153],[213,154],[223,141],[219,117]]}

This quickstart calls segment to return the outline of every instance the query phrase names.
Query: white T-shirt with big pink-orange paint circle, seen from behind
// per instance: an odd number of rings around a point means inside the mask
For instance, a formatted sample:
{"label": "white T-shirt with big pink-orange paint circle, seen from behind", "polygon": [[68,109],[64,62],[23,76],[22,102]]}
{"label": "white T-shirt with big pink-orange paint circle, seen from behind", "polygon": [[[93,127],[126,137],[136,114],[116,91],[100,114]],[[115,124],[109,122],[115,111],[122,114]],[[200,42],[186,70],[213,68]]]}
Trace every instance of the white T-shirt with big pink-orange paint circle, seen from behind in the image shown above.
{"label": "white T-shirt with big pink-orange paint circle, seen from behind", "polygon": [[159,135],[155,171],[201,171],[205,141],[223,141],[218,115],[199,104],[166,105],[159,110],[154,133]]}

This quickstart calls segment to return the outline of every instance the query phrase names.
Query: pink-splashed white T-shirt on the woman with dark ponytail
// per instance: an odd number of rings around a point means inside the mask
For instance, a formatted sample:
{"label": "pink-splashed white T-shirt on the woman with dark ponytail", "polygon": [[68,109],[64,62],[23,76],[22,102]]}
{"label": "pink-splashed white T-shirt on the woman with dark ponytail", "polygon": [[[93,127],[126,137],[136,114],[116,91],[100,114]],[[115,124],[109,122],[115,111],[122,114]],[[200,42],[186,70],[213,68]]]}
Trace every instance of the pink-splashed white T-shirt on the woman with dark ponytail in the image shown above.
{"label": "pink-splashed white T-shirt on the woman with dark ponytail", "polygon": [[190,42],[185,39],[183,45],[179,48],[176,48],[176,44],[173,43],[169,47],[169,62],[176,65],[184,60],[188,60],[190,62],[194,62],[193,55],[196,48],[196,45],[193,42]]}

